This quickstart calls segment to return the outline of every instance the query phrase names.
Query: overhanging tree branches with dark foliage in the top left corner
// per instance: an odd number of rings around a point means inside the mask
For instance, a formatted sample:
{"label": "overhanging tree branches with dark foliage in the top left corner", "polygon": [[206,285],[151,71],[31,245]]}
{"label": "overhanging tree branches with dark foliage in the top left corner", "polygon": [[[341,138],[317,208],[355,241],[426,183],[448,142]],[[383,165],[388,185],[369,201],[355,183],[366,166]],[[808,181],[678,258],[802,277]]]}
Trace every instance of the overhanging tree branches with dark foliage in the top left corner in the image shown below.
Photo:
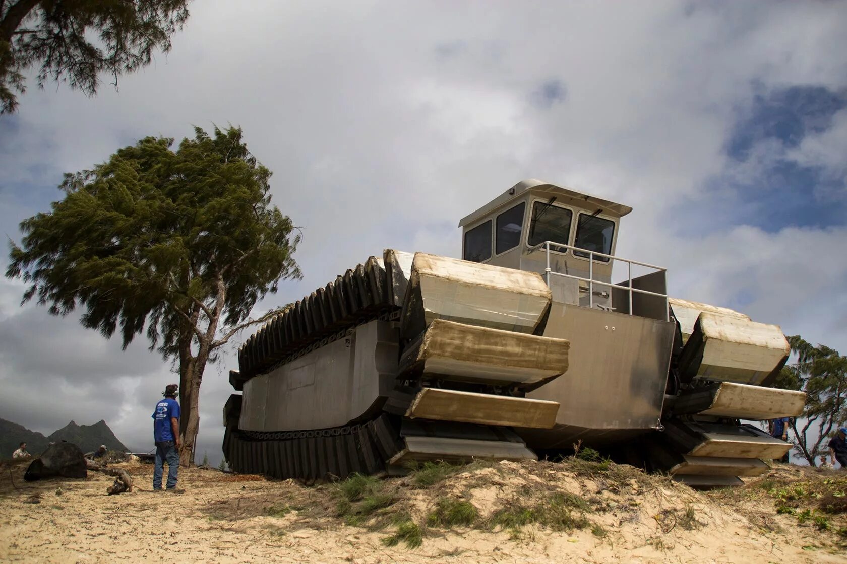
{"label": "overhanging tree branches with dark foliage in the top left corner", "polygon": [[0,0],[0,113],[14,112],[25,71],[37,84],[67,81],[88,96],[100,74],[120,74],[170,50],[188,19],[188,0]]}

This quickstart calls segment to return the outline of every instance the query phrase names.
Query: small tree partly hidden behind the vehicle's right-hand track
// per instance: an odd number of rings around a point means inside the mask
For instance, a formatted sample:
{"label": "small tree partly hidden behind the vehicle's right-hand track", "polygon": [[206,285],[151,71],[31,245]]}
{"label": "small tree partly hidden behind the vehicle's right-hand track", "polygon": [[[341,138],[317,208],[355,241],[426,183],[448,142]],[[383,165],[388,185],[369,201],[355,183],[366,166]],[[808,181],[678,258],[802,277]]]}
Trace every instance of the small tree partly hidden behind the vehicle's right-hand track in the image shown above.
{"label": "small tree partly hidden behind the vehicle's right-hand track", "polygon": [[783,368],[775,386],[805,392],[803,414],[791,424],[794,448],[817,466],[830,435],[847,421],[847,357],[824,345],[814,347],[798,335],[788,339],[797,363]]}

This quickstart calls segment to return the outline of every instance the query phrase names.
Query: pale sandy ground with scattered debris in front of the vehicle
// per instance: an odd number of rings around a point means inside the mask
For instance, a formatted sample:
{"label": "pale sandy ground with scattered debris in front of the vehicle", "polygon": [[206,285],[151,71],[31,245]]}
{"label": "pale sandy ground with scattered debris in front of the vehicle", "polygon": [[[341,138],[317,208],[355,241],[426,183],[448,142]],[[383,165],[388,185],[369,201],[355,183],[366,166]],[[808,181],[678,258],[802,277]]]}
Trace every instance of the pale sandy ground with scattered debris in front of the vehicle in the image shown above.
{"label": "pale sandy ground with scattered debris in front of the vehicle", "polygon": [[[603,538],[539,524],[424,528],[418,548],[389,547],[390,525],[337,517],[333,486],[182,468],[185,493],[153,493],[151,466],[120,467],[136,488],[119,496],[106,495],[113,479],[103,474],[29,484],[22,465],[0,467],[0,561],[847,562],[837,534],[776,514],[770,498],[702,494],[652,477],[592,479],[552,463],[495,463],[428,489],[408,478],[385,482],[421,523],[438,497],[470,501],[483,518],[504,504],[573,492],[590,500],[587,515]],[[687,528],[686,511],[695,516]]]}

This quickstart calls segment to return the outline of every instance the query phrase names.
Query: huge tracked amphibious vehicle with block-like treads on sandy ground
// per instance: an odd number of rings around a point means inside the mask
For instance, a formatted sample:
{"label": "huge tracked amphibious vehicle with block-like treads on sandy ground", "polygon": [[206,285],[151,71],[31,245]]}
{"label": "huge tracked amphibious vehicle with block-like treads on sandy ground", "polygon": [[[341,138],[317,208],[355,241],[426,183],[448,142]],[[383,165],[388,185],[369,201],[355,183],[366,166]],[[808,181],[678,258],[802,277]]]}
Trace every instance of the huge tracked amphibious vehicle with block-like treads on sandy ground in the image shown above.
{"label": "huge tracked amphibious vehicle with block-like treads on sandy ground", "polygon": [[582,444],[695,486],[761,474],[789,444],[741,421],[800,414],[767,387],[789,344],[616,256],[630,211],[527,180],[462,218],[463,260],[389,249],[302,298],[230,372],[230,467],[343,478]]}

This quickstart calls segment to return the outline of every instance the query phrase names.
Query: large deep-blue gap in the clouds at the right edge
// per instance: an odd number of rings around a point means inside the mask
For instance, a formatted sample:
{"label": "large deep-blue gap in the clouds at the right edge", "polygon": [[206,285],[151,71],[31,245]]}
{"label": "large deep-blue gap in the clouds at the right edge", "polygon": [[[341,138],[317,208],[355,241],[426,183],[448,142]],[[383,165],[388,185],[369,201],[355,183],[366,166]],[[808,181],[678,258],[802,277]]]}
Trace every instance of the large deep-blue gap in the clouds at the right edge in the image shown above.
{"label": "large deep-blue gap in the clouds at the right edge", "polygon": [[724,172],[704,183],[705,196],[678,207],[684,231],[750,225],[775,233],[847,223],[843,176],[789,156],[806,136],[830,129],[845,107],[843,94],[817,85],[757,93],[724,145]]}

